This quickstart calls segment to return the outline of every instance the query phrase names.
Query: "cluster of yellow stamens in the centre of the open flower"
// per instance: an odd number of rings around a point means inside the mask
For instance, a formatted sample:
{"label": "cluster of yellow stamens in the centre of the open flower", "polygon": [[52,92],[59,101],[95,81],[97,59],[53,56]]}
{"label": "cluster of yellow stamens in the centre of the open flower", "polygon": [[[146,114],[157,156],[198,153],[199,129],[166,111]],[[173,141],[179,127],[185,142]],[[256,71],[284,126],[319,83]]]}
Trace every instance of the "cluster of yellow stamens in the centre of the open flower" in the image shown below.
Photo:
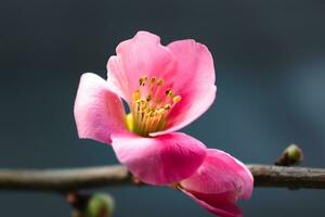
{"label": "cluster of yellow stamens in the centre of the open flower", "polygon": [[142,76],[139,89],[132,93],[131,113],[127,117],[128,128],[144,137],[162,130],[168,114],[181,100],[181,95],[176,95],[164,79]]}

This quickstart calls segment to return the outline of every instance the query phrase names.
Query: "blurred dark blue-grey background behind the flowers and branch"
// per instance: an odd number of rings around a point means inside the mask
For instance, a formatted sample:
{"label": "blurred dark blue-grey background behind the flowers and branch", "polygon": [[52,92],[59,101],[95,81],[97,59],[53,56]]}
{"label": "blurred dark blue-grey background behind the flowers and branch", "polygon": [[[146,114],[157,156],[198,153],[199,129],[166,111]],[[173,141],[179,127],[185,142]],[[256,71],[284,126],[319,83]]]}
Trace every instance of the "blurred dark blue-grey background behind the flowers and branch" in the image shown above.
{"label": "blurred dark blue-grey background behind the flowers and branch", "polygon": [[[145,29],[208,46],[218,97],[183,131],[245,163],[273,163],[295,142],[306,166],[325,167],[323,0],[1,0],[0,167],[117,163],[110,146],[79,140],[73,106],[79,77],[106,77],[121,40]],[[199,100],[199,99],[198,99]],[[103,189],[116,217],[211,216],[179,192]],[[255,190],[245,216],[325,216],[317,190]],[[0,216],[69,216],[58,195],[0,192]]]}

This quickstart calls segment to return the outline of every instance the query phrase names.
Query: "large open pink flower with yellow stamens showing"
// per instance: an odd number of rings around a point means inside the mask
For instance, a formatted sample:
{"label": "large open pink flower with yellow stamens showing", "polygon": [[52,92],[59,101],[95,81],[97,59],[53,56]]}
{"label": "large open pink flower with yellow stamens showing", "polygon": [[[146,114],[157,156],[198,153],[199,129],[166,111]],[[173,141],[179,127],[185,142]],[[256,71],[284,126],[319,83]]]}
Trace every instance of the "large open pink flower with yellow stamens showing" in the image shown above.
{"label": "large open pink flower with yellow stamens showing", "polygon": [[107,80],[91,73],[81,77],[75,102],[79,137],[112,143],[118,159],[143,182],[169,184],[190,177],[203,164],[206,146],[176,131],[214,100],[210,52],[194,40],[165,47],[158,36],[139,31],[116,53],[107,63]]}

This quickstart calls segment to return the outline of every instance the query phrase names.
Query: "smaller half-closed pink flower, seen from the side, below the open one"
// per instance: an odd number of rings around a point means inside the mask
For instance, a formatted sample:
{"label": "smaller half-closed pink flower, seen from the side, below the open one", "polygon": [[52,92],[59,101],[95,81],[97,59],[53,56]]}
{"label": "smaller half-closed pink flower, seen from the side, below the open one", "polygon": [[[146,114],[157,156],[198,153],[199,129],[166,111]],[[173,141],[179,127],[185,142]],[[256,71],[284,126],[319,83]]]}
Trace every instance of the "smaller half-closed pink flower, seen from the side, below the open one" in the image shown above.
{"label": "smaller half-closed pink flower, seen from the side, below the open one", "polygon": [[243,214],[236,201],[248,200],[252,187],[253,178],[243,163],[222,151],[210,149],[203,165],[177,188],[216,215],[239,217]]}

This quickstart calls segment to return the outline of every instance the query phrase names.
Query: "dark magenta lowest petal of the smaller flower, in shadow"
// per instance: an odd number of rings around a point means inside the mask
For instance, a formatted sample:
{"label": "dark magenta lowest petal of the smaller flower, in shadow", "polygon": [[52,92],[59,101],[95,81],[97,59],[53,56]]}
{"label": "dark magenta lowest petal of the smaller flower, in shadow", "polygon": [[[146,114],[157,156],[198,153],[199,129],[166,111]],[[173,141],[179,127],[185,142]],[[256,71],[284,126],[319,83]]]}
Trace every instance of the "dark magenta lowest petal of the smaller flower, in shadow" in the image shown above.
{"label": "dark magenta lowest petal of the smaller flower, in shadow", "polygon": [[232,200],[232,195],[227,195],[227,193],[203,194],[197,192],[188,192],[185,190],[182,191],[192,200],[197,202],[202,207],[220,217],[243,216],[240,208]]}

